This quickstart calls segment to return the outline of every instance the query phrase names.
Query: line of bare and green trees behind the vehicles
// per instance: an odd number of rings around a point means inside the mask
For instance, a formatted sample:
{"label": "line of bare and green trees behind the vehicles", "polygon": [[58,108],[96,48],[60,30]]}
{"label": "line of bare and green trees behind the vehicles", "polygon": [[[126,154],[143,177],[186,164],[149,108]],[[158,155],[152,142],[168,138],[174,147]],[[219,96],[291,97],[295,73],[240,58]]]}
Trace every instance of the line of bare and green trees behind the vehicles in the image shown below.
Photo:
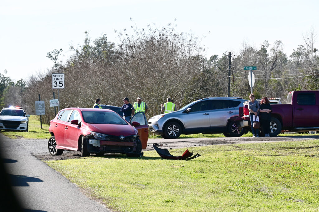
{"label": "line of bare and green trees behind the vehicles", "polygon": [[[227,51],[206,59],[198,37],[177,32],[171,24],[159,29],[131,26],[130,31],[118,32],[118,44],[108,41],[107,35],[92,40],[85,32],[83,44],[70,46],[74,53],[64,64],[59,60],[62,49],[48,52],[47,57],[54,62],[52,68],[27,81],[10,84],[0,75],[1,106],[20,105],[21,97],[27,113],[35,114],[34,102],[40,94],[46,107],[42,120],[49,123],[54,118],[54,109],[49,106],[53,92],[57,99],[51,73],[56,72],[65,74],[60,109],[92,107],[96,98],[101,99],[101,104],[122,106],[124,97],[133,103],[141,96],[149,107],[149,118],[160,113],[160,104],[167,97],[181,108],[204,97],[227,96]],[[289,91],[318,90],[319,57],[314,31],[303,38],[303,44],[289,56],[283,52],[282,41],[269,44],[265,40],[259,47],[243,43],[231,57],[230,96],[248,99],[249,72],[243,70],[244,66],[257,66],[253,87],[257,98],[281,97],[285,103]]]}

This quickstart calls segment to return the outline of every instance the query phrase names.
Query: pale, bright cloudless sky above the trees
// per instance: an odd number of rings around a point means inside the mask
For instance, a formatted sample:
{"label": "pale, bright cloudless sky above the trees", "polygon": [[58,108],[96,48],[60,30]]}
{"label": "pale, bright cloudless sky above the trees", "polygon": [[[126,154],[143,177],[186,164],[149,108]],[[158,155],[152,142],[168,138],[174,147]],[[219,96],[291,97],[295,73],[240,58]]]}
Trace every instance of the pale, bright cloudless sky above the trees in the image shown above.
{"label": "pale, bright cloudless sky above the trees", "polygon": [[73,53],[70,45],[83,44],[85,31],[92,40],[106,34],[117,44],[118,31],[147,24],[161,28],[171,23],[177,32],[191,31],[208,59],[228,51],[236,55],[243,43],[259,48],[265,40],[270,45],[281,40],[289,56],[303,35],[311,29],[318,33],[318,10],[317,0],[1,1],[0,73],[7,70],[11,80],[26,81],[54,65],[47,52],[63,49],[65,62]]}

